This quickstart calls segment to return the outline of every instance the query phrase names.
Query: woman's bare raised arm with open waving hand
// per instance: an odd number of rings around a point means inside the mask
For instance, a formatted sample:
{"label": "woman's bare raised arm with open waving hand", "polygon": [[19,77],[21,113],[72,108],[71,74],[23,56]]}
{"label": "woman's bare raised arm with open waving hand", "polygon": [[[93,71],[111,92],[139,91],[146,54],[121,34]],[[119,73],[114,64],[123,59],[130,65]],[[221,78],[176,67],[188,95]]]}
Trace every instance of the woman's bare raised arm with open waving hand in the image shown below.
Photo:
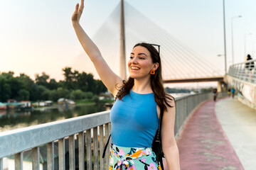
{"label": "woman's bare raised arm with open waving hand", "polygon": [[114,74],[112,69],[107,65],[104,58],[102,57],[100,50],[95,45],[94,42],[89,38],[89,36],[85,33],[85,30],[80,26],[80,17],[82,15],[82,10],[84,8],[84,0],[81,0],[81,5],[79,4],[75,6],[75,12],[72,16],[72,23],[75,29],[75,33],[78,36],[78,40],[80,41],[83,49],[90,57],[90,60],[95,65],[95,69],[100,76],[100,79],[105,84],[107,89],[115,96],[119,89],[116,89],[117,86],[122,85],[122,79]]}

